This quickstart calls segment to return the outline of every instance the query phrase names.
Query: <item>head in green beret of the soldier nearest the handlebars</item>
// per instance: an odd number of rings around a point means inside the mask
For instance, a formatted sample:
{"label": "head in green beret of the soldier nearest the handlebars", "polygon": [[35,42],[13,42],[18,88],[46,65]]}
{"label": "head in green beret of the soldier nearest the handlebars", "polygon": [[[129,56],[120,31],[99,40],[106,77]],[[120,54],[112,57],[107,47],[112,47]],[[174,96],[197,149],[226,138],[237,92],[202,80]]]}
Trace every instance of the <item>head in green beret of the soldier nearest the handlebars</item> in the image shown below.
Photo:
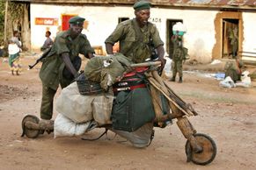
{"label": "head in green beret of the soldier nearest the handlebars", "polygon": [[134,4],[135,18],[141,27],[148,23],[150,18],[150,6],[150,2],[144,0],[138,1]]}

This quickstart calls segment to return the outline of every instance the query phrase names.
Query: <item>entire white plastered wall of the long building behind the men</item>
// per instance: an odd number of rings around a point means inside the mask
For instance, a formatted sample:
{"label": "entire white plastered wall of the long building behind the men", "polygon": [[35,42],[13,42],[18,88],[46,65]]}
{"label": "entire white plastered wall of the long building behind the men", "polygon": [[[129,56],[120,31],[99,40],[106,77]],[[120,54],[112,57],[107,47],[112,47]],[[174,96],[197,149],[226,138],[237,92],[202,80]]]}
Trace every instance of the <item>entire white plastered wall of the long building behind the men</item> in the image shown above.
{"label": "entire white plastered wall of the long building behind the men", "polygon": [[[212,50],[216,44],[214,20],[218,11],[192,11],[192,10],[171,10],[152,8],[150,21],[157,25],[160,36],[166,41],[166,20],[182,19],[187,26],[187,33],[184,36],[184,46],[188,48],[191,59],[201,62],[212,60]],[[51,4],[31,4],[31,35],[32,48],[39,49],[45,37],[46,28],[49,27],[52,37],[55,37],[58,26],[35,25],[35,18],[59,18],[59,25],[62,24],[62,14],[78,14],[89,21],[88,30],[83,32],[91,42],[91,46],[103,46],[105,50],[105,39],[113,32],[118,24],[118,18],[134,18],[134,10],[131,7],[97,7],[97,6],[60,6]],[[245,25],[252,23],[250,14],[244,15]],[[246,21],[250,19],[250,21]],[[254,25],[252,30],[255,30]],[[246,29],[246,26],[245,26]],[[252,31],[251,31],[252,32]],[[253,32],[256,34],[256,32]],[[245,39],[253,39],[252,34],[245,35]],[[252,40],[245,40],[243,46],[250,44]],[[166,43],[165,43],[166,44]],[[254,43],[255,45],[255,43]],[[250,45],[252,46],[252,45]],[[165,46],[166,47],[166,46]]]}

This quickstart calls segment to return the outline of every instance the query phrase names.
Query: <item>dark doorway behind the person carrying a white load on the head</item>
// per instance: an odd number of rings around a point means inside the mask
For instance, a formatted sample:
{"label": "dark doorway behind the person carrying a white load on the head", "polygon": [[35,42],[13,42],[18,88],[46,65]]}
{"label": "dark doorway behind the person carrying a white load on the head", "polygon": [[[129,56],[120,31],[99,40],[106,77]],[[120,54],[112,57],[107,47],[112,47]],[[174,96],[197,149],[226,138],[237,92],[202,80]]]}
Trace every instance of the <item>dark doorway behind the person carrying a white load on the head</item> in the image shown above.
{"label": "dark doorway behind the person carrying a white load on the head", "polygon": [[181,19],[167,19],[166,21],[166,51],[169,54],[169,58],[172,59],[172,53],[173,53],[173,43],[172,43],[172,27],[176,23],[183,21]]}

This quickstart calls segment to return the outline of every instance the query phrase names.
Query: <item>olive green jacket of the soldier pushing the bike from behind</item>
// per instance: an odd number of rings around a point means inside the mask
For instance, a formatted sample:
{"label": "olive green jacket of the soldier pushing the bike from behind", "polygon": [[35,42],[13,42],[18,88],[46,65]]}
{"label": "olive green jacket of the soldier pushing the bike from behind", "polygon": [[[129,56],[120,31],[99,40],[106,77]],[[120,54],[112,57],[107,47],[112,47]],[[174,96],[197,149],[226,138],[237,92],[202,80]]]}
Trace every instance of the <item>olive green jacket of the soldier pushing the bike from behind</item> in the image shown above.
{"label": "olive green jacket of the soldier pushing the bike from behind", "polygon": [[48,53],[48,56],[42,60],[40,68],[40,80],[51,89],[58,89],[65,63],[61,54],[69,53],[69,59],[74,60],[79,53],[87,56],[88,53],[94,53],[90,42],[84,34],[80,34],[76,39],[70,38],[70,31],[60,32],[55,38],[55,43]]}

